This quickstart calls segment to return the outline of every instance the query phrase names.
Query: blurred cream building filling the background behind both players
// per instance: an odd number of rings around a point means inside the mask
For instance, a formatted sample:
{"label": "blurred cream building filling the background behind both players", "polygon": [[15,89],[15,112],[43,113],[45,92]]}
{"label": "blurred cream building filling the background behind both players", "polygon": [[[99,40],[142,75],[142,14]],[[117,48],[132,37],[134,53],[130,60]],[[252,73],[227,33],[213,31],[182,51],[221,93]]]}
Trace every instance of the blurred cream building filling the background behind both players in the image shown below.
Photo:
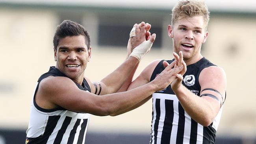
{"label": "blurred cream building filling the background behind both players", "polygon": [[[22,144],[35,83],[54,66],[52,39],[63,20],[91,35],[85,75],[100,81],[126,57],[134,23],[152,25],[156,41],[135,77],[155,59],[172,59],[167,35],[178,0],[0,0],[0,144]],[[216,144],[256,144],[256,2],[206,0],[211,11],[202,54],[227,75],[227,99]],[[87,144],[148,144],[152,101],[120,116],[92,116]]]}

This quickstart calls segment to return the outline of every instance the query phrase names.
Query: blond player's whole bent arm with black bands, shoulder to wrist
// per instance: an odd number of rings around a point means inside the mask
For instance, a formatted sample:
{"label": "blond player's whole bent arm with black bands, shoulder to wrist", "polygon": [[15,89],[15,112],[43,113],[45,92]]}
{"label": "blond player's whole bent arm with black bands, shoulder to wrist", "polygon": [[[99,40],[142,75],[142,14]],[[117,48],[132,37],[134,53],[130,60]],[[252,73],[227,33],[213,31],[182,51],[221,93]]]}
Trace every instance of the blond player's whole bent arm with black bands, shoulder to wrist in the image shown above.
{"label": "blond player's whole bent arm with black bands, shoulder to wrist", "polygon": [[181,84],[182,79],[183,77],[179,76],[171,83],[182,107],[196,122],[209,126],[219,113],[225,99],[226,75],[224,70],[217,66],[202,70],[199,76],[200,97],[184,87]]}

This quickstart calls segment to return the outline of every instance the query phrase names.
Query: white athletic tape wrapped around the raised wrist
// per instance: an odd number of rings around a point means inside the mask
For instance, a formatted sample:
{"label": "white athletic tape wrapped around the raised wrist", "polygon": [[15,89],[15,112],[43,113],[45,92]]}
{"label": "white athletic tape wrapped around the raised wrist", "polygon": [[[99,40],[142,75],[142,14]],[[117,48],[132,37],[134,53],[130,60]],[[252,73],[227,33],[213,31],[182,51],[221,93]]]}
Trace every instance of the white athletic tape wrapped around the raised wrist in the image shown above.
{"label": "white athletic tape wrapped around the raised wrist", "polygon": [[151,41],[143,41],[140,45],[136,46],[130,56],[136,57],[139,61],[147,54],[150,50],[153,42]]}

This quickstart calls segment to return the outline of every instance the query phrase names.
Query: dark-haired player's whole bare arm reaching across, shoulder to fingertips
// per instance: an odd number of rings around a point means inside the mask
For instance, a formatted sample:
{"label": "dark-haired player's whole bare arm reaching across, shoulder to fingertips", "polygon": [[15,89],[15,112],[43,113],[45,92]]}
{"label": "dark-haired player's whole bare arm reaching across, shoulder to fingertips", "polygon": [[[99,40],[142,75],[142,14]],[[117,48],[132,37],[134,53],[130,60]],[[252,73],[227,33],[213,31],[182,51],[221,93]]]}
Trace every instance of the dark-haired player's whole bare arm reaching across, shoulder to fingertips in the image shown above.
{"label": "dark-haired player's whole bare arm reaching across, shoulder to fingertips", "polygon": [[167,66],[156,79],[146,85],[126,92],[103,96],[78,89],[69,78],[49,77],[41,81],[35,98],[37,104],[45,109],[60,106],[70,111],[98,116],[121,113],[124,109],[141,102],[153,92],[164,89],[176,79],[176,74],[183,69],[183,66],[171,69],[173,66],[174,63]]}

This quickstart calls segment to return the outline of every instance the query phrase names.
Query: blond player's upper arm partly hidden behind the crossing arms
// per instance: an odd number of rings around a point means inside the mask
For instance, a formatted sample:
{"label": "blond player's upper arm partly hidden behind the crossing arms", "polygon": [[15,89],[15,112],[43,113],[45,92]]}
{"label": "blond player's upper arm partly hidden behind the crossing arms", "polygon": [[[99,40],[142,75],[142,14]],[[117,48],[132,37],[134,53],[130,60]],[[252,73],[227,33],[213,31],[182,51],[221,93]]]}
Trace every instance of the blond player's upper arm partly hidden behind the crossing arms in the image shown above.
{"label": "blond player's upper arm partly hidden behind the crossing arms", "polygon": [[144,68],[144,70],[139,74],[139,76],[134,81],[132,81],[132,83],[128,87],[128,90],[149,83],[152,73],[160,61],[161,60],[158,59],[148,64],[146,68]]}

